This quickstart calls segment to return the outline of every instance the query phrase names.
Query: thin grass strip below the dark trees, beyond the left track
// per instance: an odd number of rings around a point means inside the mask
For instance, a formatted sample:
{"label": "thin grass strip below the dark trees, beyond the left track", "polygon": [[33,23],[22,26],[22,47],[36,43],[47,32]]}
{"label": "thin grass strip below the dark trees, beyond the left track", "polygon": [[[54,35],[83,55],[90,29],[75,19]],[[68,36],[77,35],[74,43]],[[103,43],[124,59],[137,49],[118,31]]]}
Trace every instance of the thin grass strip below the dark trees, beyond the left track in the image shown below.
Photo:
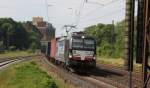
{"label": "thin grass strip below the dark trees, beyond the left track", "polygon": [[18,56],[29,56],[34,55],[34,53],[29,53],[28,51],[8,51],[0,54],[0,58],[13,58]]}

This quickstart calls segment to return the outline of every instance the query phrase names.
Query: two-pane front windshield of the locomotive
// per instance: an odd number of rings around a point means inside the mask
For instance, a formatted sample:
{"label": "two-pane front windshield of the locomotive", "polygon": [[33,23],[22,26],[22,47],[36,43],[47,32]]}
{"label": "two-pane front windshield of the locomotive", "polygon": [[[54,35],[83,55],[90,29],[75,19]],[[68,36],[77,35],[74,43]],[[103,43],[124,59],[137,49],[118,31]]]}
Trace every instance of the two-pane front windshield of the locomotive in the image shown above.
{"label": "two-pane front windshield of the locomotive", "polygon": [[73,38],[72,48],[74,49],[95,49],[95,42],[93,39]]}

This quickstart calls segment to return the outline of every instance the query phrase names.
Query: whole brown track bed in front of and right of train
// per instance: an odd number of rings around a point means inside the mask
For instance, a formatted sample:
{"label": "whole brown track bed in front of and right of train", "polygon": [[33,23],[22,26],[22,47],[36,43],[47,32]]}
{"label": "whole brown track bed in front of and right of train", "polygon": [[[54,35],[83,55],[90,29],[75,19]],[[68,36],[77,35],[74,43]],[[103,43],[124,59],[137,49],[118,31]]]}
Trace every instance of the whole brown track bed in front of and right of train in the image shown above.
{"label": "whole brown track bed in front of and right of train", "polygon": [[[68,72],[61,66],[51,64],[47,59],[44,59],[44,62],[49,65],[51,71],[79,88],[129,88],[128,72],[124,70],[101,65],[101,67],[98,66],[87,74],[77,74]],[[132,88],[142,88],[139,74],[133,76],[132,82]]]}

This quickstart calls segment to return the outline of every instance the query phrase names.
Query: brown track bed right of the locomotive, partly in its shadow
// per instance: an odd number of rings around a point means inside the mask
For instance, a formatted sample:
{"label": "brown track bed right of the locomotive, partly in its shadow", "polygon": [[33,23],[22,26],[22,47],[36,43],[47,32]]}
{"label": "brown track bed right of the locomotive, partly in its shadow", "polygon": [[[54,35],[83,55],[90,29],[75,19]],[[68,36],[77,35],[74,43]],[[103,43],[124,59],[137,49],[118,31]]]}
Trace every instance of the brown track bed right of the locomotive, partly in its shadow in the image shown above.
{"label": "brown track bed right of the locomotive, partly in its shadow", "polygon": [[[97,68],[94,71],[91,71],[90,73],[91,73],[90,75],[91,77],[106,82],[108,84],[111,84],[117,88],[129,88],[128,87],[129,76],[127,74],[109,70],[108,68],[105,69]],[[133,83],[136,84],[133,85],[133,88],[137,85],[138,87],[136,88],[141,88],[139,87],[140,86],[139,79],[138,80],[133,79],[133,80],[134,80]]]}

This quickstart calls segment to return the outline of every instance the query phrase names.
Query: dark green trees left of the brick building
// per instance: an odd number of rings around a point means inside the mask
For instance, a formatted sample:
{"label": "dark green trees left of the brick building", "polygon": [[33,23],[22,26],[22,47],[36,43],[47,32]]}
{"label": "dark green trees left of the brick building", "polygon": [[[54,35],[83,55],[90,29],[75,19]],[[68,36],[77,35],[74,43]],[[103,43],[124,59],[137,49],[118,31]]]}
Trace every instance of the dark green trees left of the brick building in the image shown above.
{"label": "dark green trees left of the brick building", "polygon": [[40,48],[41,38],[42,34],[30,21],[17,22],[12,18],[0,18],[0,49],[37,49]]}

